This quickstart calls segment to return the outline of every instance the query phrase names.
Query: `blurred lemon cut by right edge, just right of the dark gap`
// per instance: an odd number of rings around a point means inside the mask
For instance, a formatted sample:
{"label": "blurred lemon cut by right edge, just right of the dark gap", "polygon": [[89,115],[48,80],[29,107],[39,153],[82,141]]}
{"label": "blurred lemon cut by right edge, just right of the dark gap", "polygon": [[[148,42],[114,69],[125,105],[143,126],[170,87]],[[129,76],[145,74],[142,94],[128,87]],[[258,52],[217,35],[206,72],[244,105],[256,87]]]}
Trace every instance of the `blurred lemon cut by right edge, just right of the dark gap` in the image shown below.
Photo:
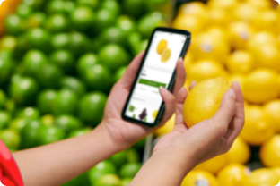
{"label": "blurred lemon cut by right edge, just right of the dark gap", "polygon": [[[267,140],[260,148],[259,157],[267,167],[280,166],[280,135]],[[279,181],[280,182],[280,181]]]}

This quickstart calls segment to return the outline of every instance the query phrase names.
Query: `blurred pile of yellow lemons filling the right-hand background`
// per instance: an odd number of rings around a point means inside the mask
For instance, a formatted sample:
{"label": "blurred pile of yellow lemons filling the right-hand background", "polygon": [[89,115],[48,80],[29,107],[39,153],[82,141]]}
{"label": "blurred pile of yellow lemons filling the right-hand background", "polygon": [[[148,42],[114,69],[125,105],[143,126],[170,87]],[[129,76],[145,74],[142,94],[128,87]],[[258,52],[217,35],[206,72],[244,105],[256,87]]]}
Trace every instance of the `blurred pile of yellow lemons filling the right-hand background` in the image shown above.
{"label": "blurred pile of yellow lemons filling the right-hand background", "polygon": [[[179,7],[172,26],[192,33],[184,60],[186,87],[193,80],[222,76],[229,83],[240,82],[246,101],[245,125],[230,151],[198,165],[182,186],[277,185],[280,182],[280,134],[277,134],[280,132],[280,5],[274,7],[270,0],[192,2]],[[173,127],[174,116],[156,133],[164,135]],[[249,146],[260,150],[251,152]],[[260,168],[259,163],[255,170],[247,165],[251,156],[259,156],[264,167]]]}

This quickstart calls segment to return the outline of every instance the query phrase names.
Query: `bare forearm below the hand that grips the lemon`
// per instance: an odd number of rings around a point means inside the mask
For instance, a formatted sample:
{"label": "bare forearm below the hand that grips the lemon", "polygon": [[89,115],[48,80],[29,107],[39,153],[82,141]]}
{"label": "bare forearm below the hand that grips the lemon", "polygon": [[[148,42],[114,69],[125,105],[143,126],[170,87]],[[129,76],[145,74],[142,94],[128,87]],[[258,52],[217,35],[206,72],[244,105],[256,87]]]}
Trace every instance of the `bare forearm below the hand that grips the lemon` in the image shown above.
{"label": "bare forearm below the hand that grips the lemon", "polygon": [[193,168],[188,156],[179,159],[170,154],[155,153],[136,174],[129,186],[179,186]]}

